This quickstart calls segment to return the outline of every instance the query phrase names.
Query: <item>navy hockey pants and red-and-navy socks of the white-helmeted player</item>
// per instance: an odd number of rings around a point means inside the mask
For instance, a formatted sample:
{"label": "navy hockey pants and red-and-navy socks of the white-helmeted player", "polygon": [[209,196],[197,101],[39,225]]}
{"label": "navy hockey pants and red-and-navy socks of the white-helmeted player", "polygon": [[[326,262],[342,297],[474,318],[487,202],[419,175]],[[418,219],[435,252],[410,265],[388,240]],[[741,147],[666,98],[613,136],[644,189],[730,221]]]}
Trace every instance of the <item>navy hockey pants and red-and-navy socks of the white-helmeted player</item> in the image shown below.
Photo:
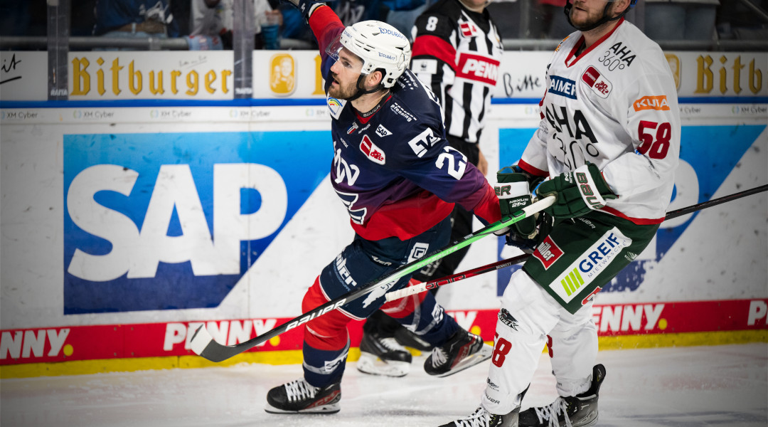
{"label": "navy hockey pants and red-and-navy socks of the white-helmeted player", "polygon": [[[349,293],[357,286],[379,279],[432,250],[444,247],[448,243],[449,227],[449,218],[446,218],[425,233],[405,241],[396,237],[371,241],[356,236],[336,260],[323,268],[323,272],[307,290],[302,303],[303,312]],[[409,280],[410,276],[404,276],[396,283],[391,283],[389,290],[407,286]],[[386,291],[374,290],[368,296],[306,323],[303,369],[307,382],[322,387],[341,379],[350,344],[346,325],[353,319],[366,319],[376,309],[381,308],[388,316],[434,345],[445,343],[459,329],[455,319],[446,316],[442,307],[435,302],[432,293],[420,293],[385,304]]]}

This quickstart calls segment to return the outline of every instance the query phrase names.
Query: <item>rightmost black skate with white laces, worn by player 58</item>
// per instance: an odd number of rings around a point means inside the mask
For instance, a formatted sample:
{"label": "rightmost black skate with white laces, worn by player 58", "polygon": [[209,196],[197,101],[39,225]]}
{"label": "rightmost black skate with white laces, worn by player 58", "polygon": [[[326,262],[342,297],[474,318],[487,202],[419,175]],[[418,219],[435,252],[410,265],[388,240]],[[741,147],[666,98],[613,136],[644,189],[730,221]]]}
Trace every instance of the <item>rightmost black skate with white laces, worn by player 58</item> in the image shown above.
{"label": "rightmost black skate with white laces, worn by player 58", "polygon": [[598,423],[598,392],[605,366],[592,368],[592,386],[576,396],[558,397],[550,405],[520,412],[520,427],[586,427]]}

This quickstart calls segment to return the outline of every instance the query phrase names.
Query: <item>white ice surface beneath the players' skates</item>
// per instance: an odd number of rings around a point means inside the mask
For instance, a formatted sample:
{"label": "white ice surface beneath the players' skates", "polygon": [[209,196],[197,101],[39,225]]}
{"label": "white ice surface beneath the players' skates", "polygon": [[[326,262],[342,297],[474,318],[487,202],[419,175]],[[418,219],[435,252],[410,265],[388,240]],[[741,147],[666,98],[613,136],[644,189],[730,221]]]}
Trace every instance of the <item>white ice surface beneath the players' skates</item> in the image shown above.
{"label": "white ice surface beneath the players' skates", "polygon": [[[436,426],[468,415],[479,402],[488,362],[432,378],[414,359],[403,378],[367,376],[349,363],[341,412],[272,415],[266,392],[296,379],[301,367],[240,365],[3,379],[2,427],[56,426]],[[605,351],[602,426],[768,425],[768,344]],[[554,399],[546,355],[524,406]]]}

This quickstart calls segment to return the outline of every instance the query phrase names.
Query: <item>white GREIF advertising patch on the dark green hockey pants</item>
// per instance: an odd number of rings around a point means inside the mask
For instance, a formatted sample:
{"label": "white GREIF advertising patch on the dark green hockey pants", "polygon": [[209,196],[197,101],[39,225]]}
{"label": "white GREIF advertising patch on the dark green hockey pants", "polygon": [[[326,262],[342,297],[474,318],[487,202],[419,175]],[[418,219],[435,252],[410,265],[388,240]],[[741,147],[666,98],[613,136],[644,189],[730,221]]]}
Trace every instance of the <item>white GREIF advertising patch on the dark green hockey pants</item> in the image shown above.
{"label": "white GREIF advertising patch on the dark green hockey pants", "polygon": [[[616,227],[598,239],[584,254],[571,264],[549,287],[563,301],[570,303],[582,288],[586,287],[610,264],[632,240]],[[543,243],[542,243],[543,244]]]}

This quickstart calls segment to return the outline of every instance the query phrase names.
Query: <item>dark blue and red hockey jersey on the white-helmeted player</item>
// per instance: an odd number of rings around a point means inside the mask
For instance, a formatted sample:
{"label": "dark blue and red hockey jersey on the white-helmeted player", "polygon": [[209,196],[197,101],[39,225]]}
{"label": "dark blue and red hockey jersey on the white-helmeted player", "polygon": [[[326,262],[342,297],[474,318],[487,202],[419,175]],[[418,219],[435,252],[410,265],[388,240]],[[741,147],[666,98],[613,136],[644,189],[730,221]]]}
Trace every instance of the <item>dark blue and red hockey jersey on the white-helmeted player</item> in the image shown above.
{"label": "dark blue and red hockey jersey on the white-helmeted player", "polygon": [[[328,7],[313,13],[310,26],[327,88],[335,60],[326,46],[344,26]],[[414,237],[451,214],[454,203],[487,223],[501,218],[493,188],[464,154],[449,147],[438,101],[411,71],[366,117],[351,102],[328,97],[327,103],[333,118],[330,178],[361,237]]]}

